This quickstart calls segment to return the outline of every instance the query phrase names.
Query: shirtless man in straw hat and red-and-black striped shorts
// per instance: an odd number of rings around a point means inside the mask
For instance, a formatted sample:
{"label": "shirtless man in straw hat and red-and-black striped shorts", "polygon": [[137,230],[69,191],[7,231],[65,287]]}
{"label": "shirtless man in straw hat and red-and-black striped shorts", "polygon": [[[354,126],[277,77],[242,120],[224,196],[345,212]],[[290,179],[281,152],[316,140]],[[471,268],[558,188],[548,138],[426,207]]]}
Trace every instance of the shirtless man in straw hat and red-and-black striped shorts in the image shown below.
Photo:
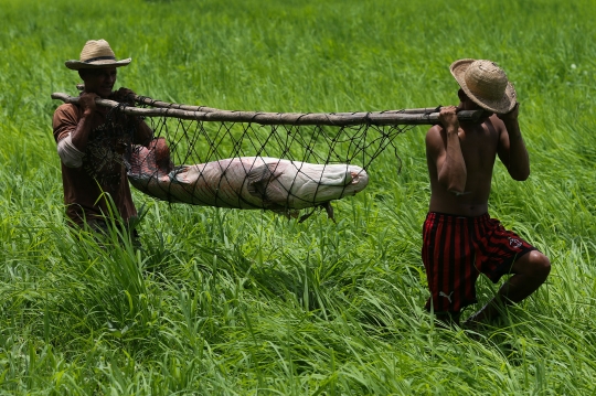
{"label": "shirtless man in straw hat and red-and-black striped shorts", "polygon": [[[530,175],[530,161],[518,124],[515,90],[490,61],[460,60],[450,71],[458,82],[459,105],[440,110],[440,125],[426,135],[430,179],[429,212],[423,228],[422,257],[438,319],[459,323],[460,312],[477,302],[480,274],[492,282],[511,277],[497,296],[472,314],[476,327],[499,317],[503,306],[534,292],[549,276],[549,258],[488,214],[497,157],[517,181]],[[485,109],[478,122],[459,122],[459,110]]]}

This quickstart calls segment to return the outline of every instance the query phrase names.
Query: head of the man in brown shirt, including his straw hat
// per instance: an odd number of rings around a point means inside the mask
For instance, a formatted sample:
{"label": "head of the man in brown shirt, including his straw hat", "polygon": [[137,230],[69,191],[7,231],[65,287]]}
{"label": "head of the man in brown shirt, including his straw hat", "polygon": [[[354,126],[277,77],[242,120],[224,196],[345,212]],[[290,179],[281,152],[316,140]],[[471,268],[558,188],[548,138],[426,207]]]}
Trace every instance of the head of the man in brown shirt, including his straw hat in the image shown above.
{"label": "head of the man in brown shirt, including his straw hat", "polygon": [[95,93],[104,98],[111,94],[116,83],[116,67],[126,66],[130,58],[116,61],[116,55],[105,40],[89,40],[83,46],[78,61],[66,61],[70,69],[78,71],[85,82],[85,92]]}

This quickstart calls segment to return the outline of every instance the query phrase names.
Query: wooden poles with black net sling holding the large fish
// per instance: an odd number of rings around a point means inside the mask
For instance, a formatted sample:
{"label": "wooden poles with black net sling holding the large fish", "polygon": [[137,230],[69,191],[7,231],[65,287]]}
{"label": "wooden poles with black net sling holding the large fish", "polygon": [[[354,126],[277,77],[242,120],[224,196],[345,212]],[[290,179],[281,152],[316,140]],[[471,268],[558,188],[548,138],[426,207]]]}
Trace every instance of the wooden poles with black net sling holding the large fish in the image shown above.
{"label": "wooden poles with black net sling holding the large fish", "polygon": [[[65,94],[53,98],[76,103]],[[115,135],[134,133],[143,118],[155,139],[130,146],[128,179],[139,191],[171,203],[272,210],[298,215],[362,191],[366,170],[394,139],[421,124],[436,124],[437,108],[376,113],[273,114],[227,111],[137,96],[139,107],[110,107]],[[478,117],[460,114],[460,119]],[[307,215],[308,216],[308,215]],[[306,216],[304,216],[306,217]]]}

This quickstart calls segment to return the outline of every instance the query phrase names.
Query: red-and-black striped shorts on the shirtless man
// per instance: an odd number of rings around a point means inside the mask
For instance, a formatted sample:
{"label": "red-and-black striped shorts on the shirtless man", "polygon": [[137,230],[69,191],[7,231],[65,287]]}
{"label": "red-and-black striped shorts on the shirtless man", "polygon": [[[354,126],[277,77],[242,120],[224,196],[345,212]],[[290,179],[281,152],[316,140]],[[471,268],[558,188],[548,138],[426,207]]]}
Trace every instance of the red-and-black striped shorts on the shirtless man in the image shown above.
{"label": "red-and-black striped shorts on the shirtless man", "polygon": [[458,313],[477,302],[480,274],[496,283],[518,258],[535,249],[488,213],[478,217],[428,213],[422,249],[432,295],[426,309]]}

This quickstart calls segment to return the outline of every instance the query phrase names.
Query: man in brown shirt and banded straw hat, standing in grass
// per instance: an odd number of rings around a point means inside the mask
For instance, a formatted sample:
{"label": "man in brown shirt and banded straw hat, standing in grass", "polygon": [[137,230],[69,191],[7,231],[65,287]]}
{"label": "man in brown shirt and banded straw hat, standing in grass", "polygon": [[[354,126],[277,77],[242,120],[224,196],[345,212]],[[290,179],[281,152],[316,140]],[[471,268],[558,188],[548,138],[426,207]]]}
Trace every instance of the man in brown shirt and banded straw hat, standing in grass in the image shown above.
{"label": "man in brown shirt and banded straw hat, standing in grass", "polygon": [[[95,103],[96,98],[131,100],[130,89],[113,92],[117,68],[129,63],[130,58],[117,61],[105,40],[87,41],[79,60],[65,63],[84,82],[78,104],[61,105],[52,122],[62,162],[66,215],[73,225],[106,232],[108,218],[129,226],[137,216],[124,153],[131,143],[149,145],[152,131],[136,117],[111,119],[108,110]],[[123,122],[128,122],[132,132],[123,132]],[[120,218],[109,216],[113,208]]]}

